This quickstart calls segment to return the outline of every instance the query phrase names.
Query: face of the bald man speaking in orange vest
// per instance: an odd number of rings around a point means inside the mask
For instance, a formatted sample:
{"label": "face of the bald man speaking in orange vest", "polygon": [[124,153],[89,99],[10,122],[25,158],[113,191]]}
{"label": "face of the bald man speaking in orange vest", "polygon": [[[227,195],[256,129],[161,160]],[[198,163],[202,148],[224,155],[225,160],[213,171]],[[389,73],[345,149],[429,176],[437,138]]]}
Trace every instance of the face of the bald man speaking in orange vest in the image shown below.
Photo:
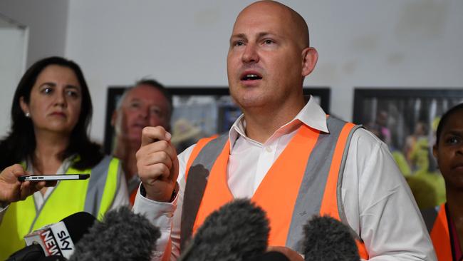
{"label": "face of the bald man speaking in orange vest", "polygon": [[303,46],[292,25],[288,11],[272,4],[248,6],[236,19],[227,72],[231,96],[244,110],[302,95]]}

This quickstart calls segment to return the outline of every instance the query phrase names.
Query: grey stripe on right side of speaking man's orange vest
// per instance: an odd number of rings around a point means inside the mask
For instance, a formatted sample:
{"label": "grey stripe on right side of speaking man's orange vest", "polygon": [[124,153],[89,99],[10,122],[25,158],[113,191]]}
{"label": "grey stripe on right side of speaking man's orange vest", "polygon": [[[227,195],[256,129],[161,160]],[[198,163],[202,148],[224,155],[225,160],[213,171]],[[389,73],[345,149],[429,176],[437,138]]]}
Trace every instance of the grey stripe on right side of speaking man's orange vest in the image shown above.
{"label": "grey stripe on right side of speaking man's orange vest", "polygon": [[[331,159],[333,158],[334,150],[338,142],[340,131],[345,125],[344,121],[337,118],[329,117],[327,119],[328,133],[320,133],[316,145],[314,146],[311,156],[306,165],[306,171],[303,175],[301,187],[299,188],[296,204],[293,208],[291,217],[291,225],[286,238],[286,246],[298,252],[303,252],[303,225],[312,218],[313,215],[320,213],[323,193],[325,191],[326,181],[331,168]],[[357,128],[353,128],[355,131]],[[343,169],[345,158],[347,157],[348,144],[350,143],[351,134],[346,140],[347,145],[343,153],[343,159],[340,165],[340,173],[338,178],[338,203],[340,201],[340,185],[342,184]],[[338,208],[342,208],[342,204],[338,204]],[[343,210],[339,211],[340,217],[345,216]],[[342,218],[341,218],[342,220]]]}

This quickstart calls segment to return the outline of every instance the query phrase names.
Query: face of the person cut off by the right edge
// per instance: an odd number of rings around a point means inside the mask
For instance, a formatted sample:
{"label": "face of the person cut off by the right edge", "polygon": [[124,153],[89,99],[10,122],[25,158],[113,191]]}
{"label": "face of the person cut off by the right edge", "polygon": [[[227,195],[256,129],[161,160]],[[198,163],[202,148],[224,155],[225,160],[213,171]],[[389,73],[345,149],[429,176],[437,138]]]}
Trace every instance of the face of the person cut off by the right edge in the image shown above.
{"label": "face of the person cut off by the right edge", "polygon": [[433,147],[447,189],[463,189],[463,110],[456,111],[445,123],[439,144]]}

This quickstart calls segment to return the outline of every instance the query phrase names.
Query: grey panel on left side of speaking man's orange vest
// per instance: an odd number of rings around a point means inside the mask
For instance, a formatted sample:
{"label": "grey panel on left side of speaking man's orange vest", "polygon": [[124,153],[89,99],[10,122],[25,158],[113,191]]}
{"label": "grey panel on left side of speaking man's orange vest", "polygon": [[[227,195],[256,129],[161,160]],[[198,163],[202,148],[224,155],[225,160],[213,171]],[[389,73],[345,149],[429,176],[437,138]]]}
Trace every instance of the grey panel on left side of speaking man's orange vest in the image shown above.
{"label": "grey panel on left side of speaking man's orange vest", "polygon": [[206,190],[207,178],[211,173],[215,160],[219,157],[228,140],[228,134],[207,143],[194,159],[188,171],[187,185],[183,196],[182,221],[180,229],[180,249],[192,235],[194,220],[201,205],[202,196]]}

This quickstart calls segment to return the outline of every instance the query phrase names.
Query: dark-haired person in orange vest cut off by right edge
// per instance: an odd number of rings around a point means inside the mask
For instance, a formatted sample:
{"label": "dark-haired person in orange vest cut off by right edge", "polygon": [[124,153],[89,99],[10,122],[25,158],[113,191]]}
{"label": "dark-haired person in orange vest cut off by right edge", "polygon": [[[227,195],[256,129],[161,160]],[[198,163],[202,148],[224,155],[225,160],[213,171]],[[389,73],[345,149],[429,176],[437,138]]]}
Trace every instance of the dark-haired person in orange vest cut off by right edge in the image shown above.
{"label": "dark-haired person in orange vest cut off by right edge", "polygon": [[[433,153],[445,180],[447,202],[423,217],[438,260],[463,260],[463,103],[451,108],[437,126]],[[433,215],[434,214],[434,215]]]}

